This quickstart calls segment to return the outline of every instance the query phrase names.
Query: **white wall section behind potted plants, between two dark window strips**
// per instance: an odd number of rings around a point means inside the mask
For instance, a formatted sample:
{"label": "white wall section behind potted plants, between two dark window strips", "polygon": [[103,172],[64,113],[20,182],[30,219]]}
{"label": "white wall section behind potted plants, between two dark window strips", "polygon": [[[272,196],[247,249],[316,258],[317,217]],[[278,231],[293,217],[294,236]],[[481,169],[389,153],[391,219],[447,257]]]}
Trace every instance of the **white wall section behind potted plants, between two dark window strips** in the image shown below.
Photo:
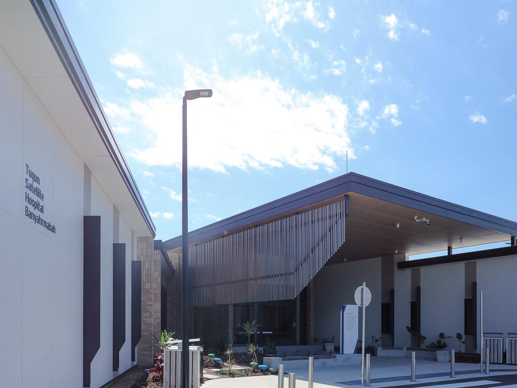
{"label": "white wall section behind potted plants, between two dark window strips", "polygon": [[464,332],[465,264],[454,263],[422,267],[421,332],[427,337],[424,346],[434,342],[439,333],[449,348],[457,349],[456,333]]}

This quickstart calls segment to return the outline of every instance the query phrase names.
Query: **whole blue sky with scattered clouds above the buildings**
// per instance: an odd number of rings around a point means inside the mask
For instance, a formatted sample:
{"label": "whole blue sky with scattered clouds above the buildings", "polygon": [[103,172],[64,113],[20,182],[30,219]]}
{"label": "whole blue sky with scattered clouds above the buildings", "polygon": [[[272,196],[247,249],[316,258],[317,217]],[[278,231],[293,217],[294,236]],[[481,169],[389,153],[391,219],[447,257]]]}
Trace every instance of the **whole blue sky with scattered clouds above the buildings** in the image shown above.
{"label": "whole blue sky with scattered clouds above the buildings", "polygon": [[348,169],[517,220],[517,3],[57,1],[157,225]]}

